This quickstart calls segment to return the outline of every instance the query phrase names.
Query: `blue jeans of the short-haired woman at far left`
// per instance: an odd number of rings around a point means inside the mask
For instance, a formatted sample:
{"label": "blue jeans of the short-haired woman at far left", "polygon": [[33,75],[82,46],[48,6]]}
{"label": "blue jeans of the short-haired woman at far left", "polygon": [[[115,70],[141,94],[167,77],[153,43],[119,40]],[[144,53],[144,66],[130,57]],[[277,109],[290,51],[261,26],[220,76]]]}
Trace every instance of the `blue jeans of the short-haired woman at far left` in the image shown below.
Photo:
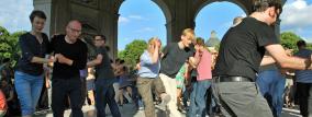
{"label": "blue jeans of the short-haired woman at far left", "polygon": [[31,75],[21,71],[15,71],[14,77],[22,116],[33,115],[43,86],[43,74]]}

